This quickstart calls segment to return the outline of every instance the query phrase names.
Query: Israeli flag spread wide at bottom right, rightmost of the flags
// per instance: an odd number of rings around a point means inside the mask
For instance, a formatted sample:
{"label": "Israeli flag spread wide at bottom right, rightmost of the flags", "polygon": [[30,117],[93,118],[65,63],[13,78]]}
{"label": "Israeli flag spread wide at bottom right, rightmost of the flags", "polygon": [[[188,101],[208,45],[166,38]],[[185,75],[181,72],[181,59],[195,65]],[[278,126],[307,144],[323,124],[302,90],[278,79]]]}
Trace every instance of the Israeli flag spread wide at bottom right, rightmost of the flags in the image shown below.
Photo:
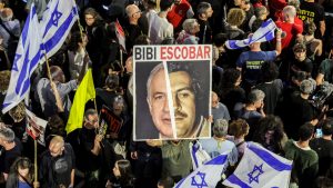
{"label": "Israeli flag spread wide at bottom right, rightmost of the flags", "polygon": [[289,187],[291,170],[291,160],[249,142],[238,168],[223,185],[240,188]]}

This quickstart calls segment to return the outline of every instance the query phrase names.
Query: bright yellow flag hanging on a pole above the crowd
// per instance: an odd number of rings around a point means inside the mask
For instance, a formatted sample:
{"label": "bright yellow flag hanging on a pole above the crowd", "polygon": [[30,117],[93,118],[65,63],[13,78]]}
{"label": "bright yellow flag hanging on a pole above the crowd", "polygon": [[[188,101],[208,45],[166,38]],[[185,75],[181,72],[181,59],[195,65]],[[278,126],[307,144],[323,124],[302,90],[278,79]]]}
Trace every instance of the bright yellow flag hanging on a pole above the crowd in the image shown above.
{"label": "bright yellow flag hanging on a pole above the crowd", "polygon": [[85,103],[93,98],[95,98],[95,91],[91,69],[89,69],[75,92],[74,101],[65,126],[67,133],[70,133],[78,128],[82,128]]}

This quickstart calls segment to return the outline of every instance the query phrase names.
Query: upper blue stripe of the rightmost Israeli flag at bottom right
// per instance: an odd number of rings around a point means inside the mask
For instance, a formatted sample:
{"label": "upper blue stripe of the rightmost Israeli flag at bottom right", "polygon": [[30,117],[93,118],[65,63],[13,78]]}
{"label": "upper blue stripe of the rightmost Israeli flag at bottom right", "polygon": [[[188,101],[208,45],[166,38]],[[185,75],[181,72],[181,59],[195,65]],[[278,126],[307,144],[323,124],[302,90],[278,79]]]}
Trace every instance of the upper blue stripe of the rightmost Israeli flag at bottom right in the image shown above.
{"label": "upper blue stripe of the rightmost Israeli flag at bottom right", "polygon": [[274,156],[272,156],[270,152],[262,150],[260,148],[256,148],[255,146],[248,146],[250,150],[252,150],[258,157],[260,157],[263,161],[265,161],[269,166],[274,168],[278,171],[283,170],[291,170],[292,166],[281,162],[279,159],[276,159]]}

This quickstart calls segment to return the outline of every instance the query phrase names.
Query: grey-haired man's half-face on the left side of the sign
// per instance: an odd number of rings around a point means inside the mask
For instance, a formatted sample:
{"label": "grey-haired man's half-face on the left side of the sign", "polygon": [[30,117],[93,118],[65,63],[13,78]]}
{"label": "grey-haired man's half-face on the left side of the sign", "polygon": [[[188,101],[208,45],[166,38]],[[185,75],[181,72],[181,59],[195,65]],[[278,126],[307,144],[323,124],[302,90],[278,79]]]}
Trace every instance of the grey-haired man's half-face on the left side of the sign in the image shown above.
{"label": "grey-haired man's half-face on the left side of the sign", "polygon": [[173,138],[164,69],[159,70],[151,79],[148,105],[152,121],[161,136]]}

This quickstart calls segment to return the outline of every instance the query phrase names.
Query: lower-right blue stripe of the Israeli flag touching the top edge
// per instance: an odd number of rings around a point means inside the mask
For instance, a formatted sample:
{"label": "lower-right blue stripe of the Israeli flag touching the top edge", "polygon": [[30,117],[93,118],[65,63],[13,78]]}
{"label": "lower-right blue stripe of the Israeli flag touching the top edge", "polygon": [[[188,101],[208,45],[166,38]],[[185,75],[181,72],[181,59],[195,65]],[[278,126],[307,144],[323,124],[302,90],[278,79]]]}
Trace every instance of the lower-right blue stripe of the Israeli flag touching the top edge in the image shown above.
{"label": "lower-right blue stripe of the Israeli flag touching the top edge", "polygon": [[59,41],[68,31],[70,23],[72,22],[73,18],[77,16],[75,13],[77,13],[77,9],[73,8],[72,13],[69,14],[69,17],[64,20],[64,22],[59,27],[57,32],[52,36],[52,38],[44,43],[44,49],[47,50],[47,52],[51,51],[56,46],[59,44]]}

